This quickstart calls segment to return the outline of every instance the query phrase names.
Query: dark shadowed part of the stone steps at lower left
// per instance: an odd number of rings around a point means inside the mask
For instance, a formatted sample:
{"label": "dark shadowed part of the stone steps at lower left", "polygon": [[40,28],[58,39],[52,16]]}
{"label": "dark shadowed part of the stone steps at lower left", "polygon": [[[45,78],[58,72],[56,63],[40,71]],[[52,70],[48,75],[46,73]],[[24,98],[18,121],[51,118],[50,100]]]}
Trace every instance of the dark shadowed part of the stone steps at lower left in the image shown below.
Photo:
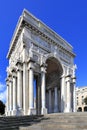
{"label": "dark shadowed part of the stone steps at lower left", "polygon": [[43,115],[0,117],[0,130],[20,130],[20,127],[27,127],[40,122],[42,118]]}

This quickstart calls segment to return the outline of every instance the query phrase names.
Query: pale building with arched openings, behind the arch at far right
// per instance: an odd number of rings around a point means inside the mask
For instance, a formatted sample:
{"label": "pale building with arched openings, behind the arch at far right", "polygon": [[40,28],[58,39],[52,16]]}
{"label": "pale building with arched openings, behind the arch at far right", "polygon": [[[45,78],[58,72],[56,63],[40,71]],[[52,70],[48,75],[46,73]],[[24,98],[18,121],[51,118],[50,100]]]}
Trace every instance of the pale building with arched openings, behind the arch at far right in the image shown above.
{"label": "pale building with arched openings, behind the arch at far right", "polygon": [[87,104],[84,99],[87,97],[87,87],[76,88],[76,108],[77,112],[87,111]]}

